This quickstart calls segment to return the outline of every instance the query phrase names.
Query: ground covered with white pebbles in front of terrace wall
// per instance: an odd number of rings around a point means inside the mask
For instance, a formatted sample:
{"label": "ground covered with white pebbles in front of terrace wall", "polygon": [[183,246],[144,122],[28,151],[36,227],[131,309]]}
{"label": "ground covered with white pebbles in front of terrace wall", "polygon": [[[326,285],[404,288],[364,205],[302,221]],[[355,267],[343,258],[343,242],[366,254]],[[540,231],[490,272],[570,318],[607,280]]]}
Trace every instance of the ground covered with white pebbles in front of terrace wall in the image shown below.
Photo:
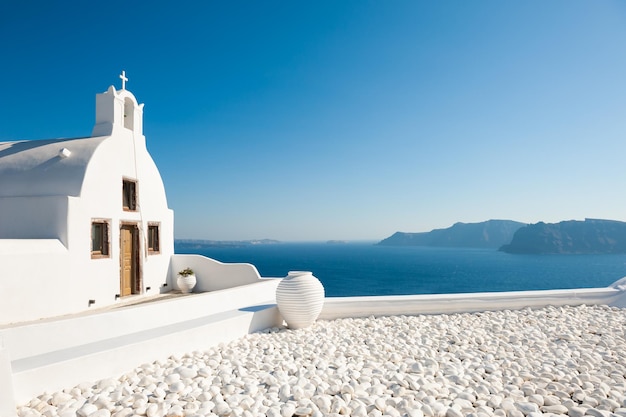
{"label": "ground covered with white pebbles in front of terrace wall", "polygon": [[602,306],[318,322],[47,393],[18,415],[626,416],[625,332],[626,310]]}

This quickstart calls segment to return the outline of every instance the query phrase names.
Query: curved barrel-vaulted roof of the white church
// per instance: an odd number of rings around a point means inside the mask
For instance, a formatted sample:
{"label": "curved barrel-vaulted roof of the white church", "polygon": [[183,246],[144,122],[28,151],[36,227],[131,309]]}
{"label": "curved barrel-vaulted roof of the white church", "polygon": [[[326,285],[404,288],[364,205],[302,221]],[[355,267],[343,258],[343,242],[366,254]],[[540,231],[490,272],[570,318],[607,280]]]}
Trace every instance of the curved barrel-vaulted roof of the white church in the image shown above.
{"label": "curved barrel-vaulted roof of the white church", "polygon": [[0,197],[79,196],[87,165],[107,137],[0,142]]}

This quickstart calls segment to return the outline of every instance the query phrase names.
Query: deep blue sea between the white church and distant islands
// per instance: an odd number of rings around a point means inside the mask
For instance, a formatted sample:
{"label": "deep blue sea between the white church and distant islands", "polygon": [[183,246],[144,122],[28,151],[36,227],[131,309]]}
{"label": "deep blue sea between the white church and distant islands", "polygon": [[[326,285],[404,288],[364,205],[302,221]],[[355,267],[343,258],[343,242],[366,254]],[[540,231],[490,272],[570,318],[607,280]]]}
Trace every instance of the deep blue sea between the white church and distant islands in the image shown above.
{"label": "deep blue sea between the white church and distant islands", "polygon": [[626,255],[512,255],[495,249],[277,243],[204,247],[221,262],[246,262],[263,277],[312,271],[327,297],[605,287],[626,276]]}

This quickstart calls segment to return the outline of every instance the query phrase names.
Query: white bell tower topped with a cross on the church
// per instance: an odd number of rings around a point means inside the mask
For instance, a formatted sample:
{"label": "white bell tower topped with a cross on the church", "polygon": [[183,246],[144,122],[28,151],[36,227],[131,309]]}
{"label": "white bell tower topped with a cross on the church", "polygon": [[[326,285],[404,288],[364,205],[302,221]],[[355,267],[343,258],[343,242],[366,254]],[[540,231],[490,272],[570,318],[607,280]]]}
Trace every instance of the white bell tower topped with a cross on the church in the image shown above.
{"label": "white bell tower topped with a cross on the church", "polygon": [[120,74],[122,89],[110,86],[107,91],[96,94],[96,124],[91,136],[110,136],[118,129],[127,129],[143,135],[143,103],[126,89],[126,71]]}

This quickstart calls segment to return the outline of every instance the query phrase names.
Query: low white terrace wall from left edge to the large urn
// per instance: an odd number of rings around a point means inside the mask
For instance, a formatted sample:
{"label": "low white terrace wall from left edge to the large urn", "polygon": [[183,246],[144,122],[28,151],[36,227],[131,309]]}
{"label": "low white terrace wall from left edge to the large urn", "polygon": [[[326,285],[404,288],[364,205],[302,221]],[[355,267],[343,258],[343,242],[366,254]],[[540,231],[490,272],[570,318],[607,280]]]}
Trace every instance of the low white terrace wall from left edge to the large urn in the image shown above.
{"label": "low white terrace wall from left edge to the large urn", "polygon": [[[0,373],[0,405],[10,398],[3,378],[12,380],[19,404],[44,391],[118,377],[142,363],[279,326],[282,318],[275,306],[279,281],[257,279],[250,285],[98,314],[0,326],[0,342],[12,365],[11,375]],[[0,372],[2,354],[0,349]]]}

